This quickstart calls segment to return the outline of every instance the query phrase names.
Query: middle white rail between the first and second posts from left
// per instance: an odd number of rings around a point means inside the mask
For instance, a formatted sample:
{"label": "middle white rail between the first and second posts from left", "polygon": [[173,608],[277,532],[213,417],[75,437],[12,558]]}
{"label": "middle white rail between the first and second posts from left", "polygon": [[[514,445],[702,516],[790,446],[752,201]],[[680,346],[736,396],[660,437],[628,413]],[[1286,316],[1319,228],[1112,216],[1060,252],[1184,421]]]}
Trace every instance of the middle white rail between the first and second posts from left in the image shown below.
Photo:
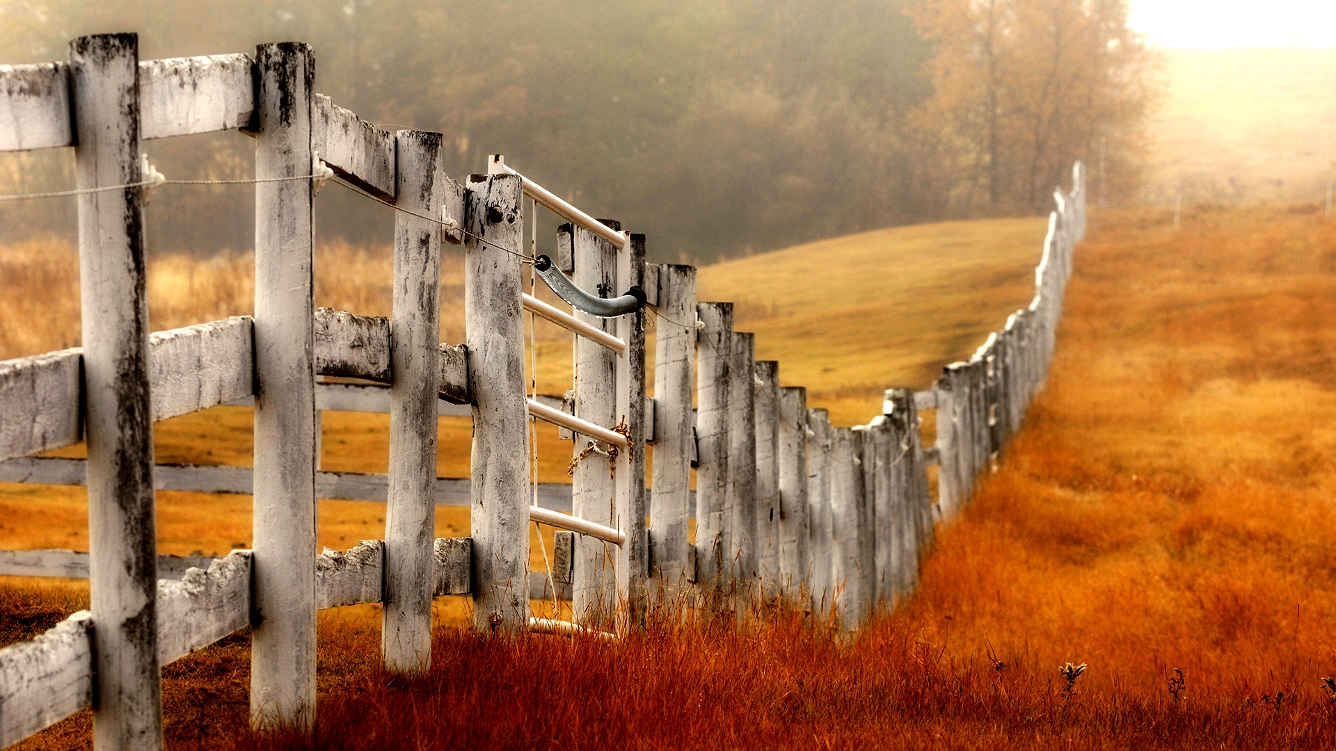
{"label": "middle white rail between the first and second posts from left", "polygon": [[148,377],[154,421],[254,393],[254,338],[248,315],[151,334]]}

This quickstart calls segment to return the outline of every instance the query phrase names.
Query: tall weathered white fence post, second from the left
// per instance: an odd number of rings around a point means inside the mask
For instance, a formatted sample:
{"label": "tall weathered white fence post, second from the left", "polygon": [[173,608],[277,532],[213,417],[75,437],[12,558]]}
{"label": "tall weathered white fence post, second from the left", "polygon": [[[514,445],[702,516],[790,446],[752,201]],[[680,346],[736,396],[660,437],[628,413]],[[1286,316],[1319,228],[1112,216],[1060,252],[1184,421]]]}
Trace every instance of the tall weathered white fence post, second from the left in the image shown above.
{"label": "tall weathered white fence post, second from the left", "polygon": [[[255,52],[255,178],[311,175],[310,47]],[[311,180],[255,184],[251,723],[315,723]]]}

